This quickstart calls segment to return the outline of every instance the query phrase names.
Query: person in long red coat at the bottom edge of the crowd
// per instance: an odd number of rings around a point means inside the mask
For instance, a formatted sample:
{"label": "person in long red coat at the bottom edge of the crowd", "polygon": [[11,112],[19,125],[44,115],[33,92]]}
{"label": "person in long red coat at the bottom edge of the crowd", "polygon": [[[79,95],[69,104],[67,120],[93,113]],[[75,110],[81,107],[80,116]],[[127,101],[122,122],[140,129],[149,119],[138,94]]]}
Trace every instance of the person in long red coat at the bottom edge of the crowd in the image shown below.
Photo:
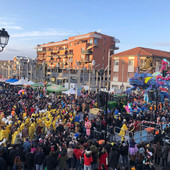
{"label": "person in long red coat at the bottom edge of the crowd", "polygon": [[101,170],[102,165],[108,170],[108,153],[105,148],[102,148],[99,156],[99,170]]}

